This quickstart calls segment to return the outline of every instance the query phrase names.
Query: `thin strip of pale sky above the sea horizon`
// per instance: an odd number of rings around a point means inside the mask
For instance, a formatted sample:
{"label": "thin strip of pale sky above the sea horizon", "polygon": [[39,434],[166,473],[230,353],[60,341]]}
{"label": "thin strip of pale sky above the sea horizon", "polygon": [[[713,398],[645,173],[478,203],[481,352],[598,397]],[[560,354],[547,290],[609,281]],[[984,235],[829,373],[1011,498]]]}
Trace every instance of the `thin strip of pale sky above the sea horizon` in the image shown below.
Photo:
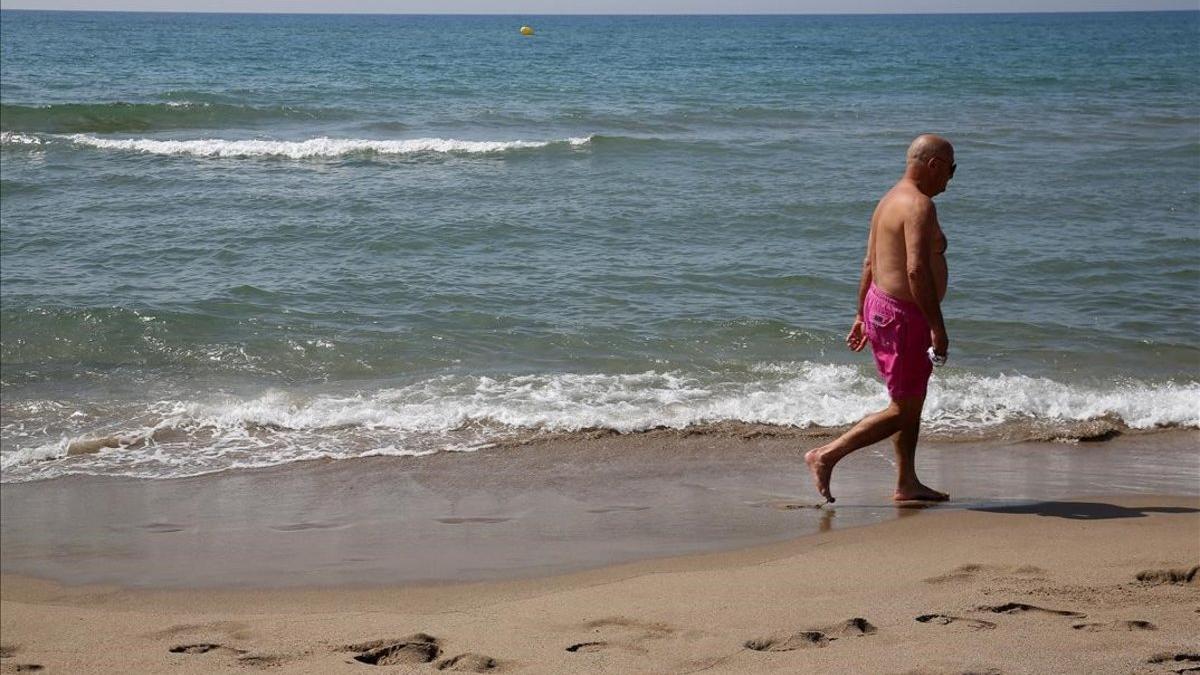
{"label": "thin strip of pale sky above the sea horizon", "polygon": [[1200,10],[1200,0],[0,0],[0,7],[388,14],[809,14]]}

